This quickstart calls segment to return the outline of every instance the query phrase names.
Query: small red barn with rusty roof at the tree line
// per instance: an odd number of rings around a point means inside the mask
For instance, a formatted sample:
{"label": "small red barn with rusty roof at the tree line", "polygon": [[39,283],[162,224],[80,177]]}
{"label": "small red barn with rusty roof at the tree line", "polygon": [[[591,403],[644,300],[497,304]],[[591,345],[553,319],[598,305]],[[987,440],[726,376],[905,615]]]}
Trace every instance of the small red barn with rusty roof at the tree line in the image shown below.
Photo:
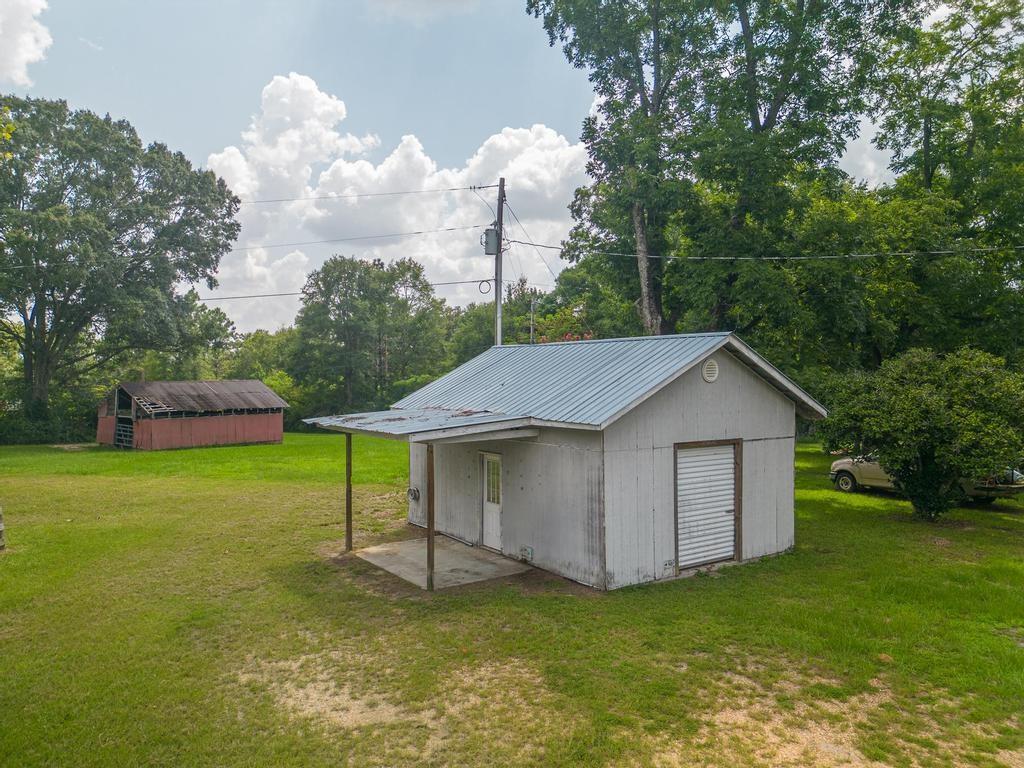
{"label": "small red barn with rusty roof at the tree line", "polygon": [[281,442],[286,408],[252,379],[125,382],[99,407],[96,441],[143,451]]}

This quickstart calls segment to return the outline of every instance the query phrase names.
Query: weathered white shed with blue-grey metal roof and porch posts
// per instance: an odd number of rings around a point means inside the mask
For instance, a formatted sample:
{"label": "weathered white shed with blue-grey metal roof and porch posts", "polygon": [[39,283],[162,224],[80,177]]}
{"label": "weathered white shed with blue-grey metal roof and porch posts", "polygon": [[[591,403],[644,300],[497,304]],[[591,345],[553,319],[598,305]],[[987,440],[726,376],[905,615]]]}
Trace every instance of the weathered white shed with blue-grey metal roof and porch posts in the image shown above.
{"label": "weathered white shed with blue-grey metal roof and porch posts", "polygon": [[718,333],[493,347],[389,411],[308,421],[410,442],[428,572],[436,531],[614,589],[792,547],[797,414],[825,411]]}

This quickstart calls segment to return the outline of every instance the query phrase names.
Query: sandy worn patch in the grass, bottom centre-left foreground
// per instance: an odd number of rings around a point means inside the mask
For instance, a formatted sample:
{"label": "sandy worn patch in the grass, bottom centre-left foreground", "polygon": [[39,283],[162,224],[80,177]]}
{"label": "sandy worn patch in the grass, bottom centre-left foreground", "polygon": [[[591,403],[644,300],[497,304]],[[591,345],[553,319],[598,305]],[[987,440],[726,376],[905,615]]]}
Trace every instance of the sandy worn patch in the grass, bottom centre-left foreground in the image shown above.
{"label": "sandy worn patch in the grass, bottom centre-left foreground", "polygon": [[404,764],[411,756],[436,765],[540,764],[546,744],[568,727],[542,676],[519,659],[445,671],[430,705],[401,700],[393,672],[386,658],[334,650],[250,660],[239,680],[267,690],[290,717],[329,730],[369,731],[372,740],[377,736],[377,765]]}

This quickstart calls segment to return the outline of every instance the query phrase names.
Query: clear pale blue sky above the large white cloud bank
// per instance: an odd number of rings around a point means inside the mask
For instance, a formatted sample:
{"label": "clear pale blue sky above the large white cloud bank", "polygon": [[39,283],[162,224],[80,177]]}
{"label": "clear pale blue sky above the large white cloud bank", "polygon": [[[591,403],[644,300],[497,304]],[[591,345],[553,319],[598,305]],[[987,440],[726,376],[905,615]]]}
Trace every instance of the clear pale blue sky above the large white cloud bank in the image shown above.
{"label": "clear pale blue sky above the large white cloud bank", "polygon": [[313,78],[348,108],[346,129],[416,134],[443,165],[504,126],[571,139],[586,75],[548,45],[522,0],[50,0],[52,36],[33,95],[127,117],[197,162],[238,140],[274,75]]}

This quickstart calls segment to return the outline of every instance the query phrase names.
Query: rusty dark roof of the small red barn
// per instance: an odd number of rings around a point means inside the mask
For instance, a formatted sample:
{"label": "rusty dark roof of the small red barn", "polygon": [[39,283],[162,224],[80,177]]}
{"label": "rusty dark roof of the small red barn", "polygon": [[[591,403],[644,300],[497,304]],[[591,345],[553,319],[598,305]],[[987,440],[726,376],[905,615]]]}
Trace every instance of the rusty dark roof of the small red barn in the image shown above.
{"label": "rusty dark roof of the small red barn", "polygon": [[150,414],[288,408],[285,400],[257,379],[132,381],[119,386]]}

